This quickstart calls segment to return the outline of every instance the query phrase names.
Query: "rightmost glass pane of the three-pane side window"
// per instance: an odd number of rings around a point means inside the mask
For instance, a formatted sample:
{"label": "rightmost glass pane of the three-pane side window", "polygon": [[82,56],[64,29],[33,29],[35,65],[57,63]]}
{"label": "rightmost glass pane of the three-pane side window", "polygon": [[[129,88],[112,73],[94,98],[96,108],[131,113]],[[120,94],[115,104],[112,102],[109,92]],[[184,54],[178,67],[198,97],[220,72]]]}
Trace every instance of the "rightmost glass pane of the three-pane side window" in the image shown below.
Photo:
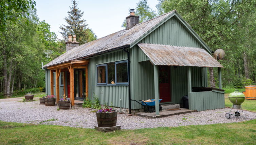
{"label": "rightmost glass pane of the three-pane side window", "polygon": [[116,79],[117,83],[128,83],[127,62],[116,64]]}

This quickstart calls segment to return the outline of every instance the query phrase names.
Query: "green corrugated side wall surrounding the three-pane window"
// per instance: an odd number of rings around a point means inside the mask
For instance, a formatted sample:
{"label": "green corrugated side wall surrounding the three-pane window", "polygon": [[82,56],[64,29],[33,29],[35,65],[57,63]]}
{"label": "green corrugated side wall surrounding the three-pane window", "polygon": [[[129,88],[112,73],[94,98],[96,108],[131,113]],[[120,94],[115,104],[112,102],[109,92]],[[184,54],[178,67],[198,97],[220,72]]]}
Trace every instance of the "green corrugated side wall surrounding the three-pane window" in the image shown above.
{"label": "green corrugated side wall surrounding the three-pane window", "polygon": [[[100,104],[102,105],[104,105],[105,103],[107,103],[107,105],[111,105],[112,103],[115,107],[129,108],[128,85],[96,86],[96,65],[121,60],[127,60],[127,53],[122,50],[105,55],[99,55],[90,59],[90,63],[88,66],[88,97],[90,100],[93,100],[93,92],[95,92],[95,94],[100,99]],[[120,99],[122,99],[122,102],[120,102]]]}

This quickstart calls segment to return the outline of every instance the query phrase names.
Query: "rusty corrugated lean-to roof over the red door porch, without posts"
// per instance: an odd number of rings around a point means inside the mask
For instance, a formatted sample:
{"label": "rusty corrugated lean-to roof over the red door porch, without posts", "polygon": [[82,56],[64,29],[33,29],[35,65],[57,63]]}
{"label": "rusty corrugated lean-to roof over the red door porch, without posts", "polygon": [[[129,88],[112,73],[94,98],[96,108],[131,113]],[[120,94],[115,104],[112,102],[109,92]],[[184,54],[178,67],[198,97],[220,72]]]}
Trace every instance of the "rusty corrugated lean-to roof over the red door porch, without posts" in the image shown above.
{"label": "rusty corrugated lean-to roof over the red door porch, without posts", "polygon": [[155,65],[223,67],[201,48],[146,43],[138,46]]}

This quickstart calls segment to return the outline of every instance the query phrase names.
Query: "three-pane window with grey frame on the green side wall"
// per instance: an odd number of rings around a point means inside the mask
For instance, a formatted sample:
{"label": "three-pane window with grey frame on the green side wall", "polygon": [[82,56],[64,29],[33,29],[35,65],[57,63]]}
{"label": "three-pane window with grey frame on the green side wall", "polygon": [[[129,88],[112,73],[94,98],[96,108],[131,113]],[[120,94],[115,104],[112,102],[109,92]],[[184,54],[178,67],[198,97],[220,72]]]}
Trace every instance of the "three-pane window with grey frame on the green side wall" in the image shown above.
{"label": "three-pane window with grey frame on the green side wall", "polygon": [[127,85],[128,61],[97,65],[97,85]]}

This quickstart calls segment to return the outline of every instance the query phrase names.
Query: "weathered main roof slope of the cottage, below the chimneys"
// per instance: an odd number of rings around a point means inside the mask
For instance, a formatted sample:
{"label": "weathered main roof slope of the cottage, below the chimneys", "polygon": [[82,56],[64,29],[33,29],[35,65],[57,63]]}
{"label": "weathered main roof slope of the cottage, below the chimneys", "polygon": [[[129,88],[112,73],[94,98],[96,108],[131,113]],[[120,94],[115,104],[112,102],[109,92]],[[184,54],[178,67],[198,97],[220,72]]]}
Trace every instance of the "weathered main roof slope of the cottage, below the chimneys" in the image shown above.
{"label": "weathered main roof slope of the cottage, below the chimneys", "polygon": [[48,64],[44,65],[44,67],[48,67],[51,65],[67,62],[70,60],[85,58],[91,55],[105,52],[108,50],[112,50],[114,48],[119,48],[122,46],[129,46],[132,42],[140,38],[144,33],[149,31],[159,22],[164,20],[166,17],[174,13],[176,10],[165,13],[161,16],[153,18],[143,23],[139,23],[133,26],[131,29],[124,29],[113,34],[107,35],[105,37],[99,38],[97,40],[85,43],[78,47],[75,47],[68,52],[60,55],[56,59],[52,60]]}

